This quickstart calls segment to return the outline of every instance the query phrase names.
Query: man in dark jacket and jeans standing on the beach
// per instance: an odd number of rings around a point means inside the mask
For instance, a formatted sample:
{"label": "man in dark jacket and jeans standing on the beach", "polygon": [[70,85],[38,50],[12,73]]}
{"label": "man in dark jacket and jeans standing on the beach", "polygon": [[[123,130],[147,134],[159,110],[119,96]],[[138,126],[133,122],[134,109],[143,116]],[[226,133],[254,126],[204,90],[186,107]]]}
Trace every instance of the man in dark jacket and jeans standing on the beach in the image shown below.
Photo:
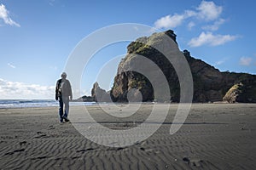
{"label": "man in dark jacket and jeans standing on the beach", "polygon": [[[69,122],[67,116],[69,111],[69,100],[72,100],[72,89],[70,82],[66,79],[67,74],[66,72],[62,72],[61,79],[59,79],[56,83],[55,88],[55,99],[59,100],[60,103],[60,109],[59,109],[59,115],[60,115],[60,122],[63,122],[63,119],[65,122]],[[65,105],[65,110],[63,111],[63,105]]]}

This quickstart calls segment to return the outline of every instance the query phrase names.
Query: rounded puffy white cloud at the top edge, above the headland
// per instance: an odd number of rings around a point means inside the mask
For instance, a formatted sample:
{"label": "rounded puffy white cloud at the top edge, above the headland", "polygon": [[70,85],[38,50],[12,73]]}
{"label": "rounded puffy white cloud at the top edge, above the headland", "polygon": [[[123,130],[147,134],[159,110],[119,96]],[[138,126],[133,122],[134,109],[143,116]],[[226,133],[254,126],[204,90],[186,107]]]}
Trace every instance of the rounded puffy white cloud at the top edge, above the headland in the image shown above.
{"label": "rounded puffy white cloud at the top edge, above the headland", "polygon": [[198,8],[199,12],[197,16],[202,20],[216,20],[222,13],[222,7],[216,5],[215,3],[202,1]]}

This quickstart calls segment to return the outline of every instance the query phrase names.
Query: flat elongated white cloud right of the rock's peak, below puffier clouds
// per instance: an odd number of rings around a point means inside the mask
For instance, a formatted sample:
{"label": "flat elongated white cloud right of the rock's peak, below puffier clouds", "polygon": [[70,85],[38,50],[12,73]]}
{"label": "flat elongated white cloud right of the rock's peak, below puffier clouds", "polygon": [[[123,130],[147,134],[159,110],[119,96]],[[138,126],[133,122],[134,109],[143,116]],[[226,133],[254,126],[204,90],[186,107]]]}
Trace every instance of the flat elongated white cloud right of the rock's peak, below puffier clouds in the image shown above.
{"label": "flat elongated white cloud right of the rock's peak, below puffier clouds", "polygon": [[226,42],[234,41],[237,36],[230,35],[213,35],[212,32],[201,32],[199,37],[194,37],[190,40],[190,47],[200,47],[202,45],[218,46]]}

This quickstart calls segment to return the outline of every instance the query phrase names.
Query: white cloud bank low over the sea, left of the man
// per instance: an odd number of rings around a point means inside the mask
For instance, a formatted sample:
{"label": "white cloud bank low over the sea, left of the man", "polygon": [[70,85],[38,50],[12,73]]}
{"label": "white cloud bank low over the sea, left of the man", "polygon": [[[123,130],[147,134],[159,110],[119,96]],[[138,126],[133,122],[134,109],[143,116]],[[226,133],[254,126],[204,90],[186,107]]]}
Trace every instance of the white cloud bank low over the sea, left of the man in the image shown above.
{"label": "white cloud bank low over the sea, left of the man", "polygon": [[0,99],[55,99],[55,86],[9,82],[0,78]]}

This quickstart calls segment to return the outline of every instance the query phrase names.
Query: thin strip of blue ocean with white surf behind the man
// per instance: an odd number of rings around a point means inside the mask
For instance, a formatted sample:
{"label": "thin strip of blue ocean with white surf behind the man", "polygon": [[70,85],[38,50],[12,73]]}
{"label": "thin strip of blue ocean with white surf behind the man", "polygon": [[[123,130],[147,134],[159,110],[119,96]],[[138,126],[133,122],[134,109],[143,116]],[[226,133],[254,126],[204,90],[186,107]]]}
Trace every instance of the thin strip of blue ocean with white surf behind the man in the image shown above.
{"label": "thin strip of blue ocean with white surf behind the man", "polygon": [[[69,105],[95,105],[95,102],[70,102]],[[0,108],[53,107],[59,102],[53,99],[0,99]]]}

